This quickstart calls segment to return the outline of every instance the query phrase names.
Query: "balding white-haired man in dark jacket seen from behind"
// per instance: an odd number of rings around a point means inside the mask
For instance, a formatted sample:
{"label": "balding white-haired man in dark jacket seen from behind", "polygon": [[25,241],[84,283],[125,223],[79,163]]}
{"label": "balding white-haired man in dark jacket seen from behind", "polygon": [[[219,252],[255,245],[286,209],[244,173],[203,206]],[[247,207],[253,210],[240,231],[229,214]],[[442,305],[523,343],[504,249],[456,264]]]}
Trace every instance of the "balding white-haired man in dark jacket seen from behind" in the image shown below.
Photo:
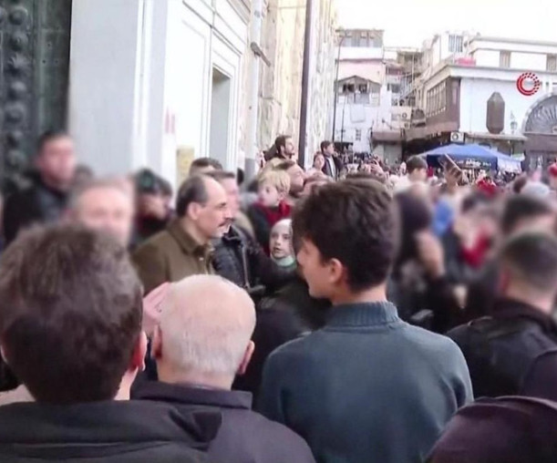
{"label": "balding white-haired man in dark jacket seen from behind", "polygon": [[251,409],[252,396],[232,391],[253,354],[255,324],[247,293],[222,277],[196,275],[174,283],[155,330],[152,355],[159,383],[134,389],[134,397],[196,406],[222,413],[209,456],[226,463],[313,463],[302,437]]}

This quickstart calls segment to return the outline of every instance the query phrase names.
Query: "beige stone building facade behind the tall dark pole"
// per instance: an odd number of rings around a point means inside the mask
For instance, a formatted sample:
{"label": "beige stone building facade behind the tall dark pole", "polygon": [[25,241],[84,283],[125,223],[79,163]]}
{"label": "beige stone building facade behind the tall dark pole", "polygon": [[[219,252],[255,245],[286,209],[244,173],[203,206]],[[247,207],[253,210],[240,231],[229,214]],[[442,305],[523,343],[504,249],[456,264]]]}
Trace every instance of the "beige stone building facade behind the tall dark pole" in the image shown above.
{"label": "beige stone building facade behind the tall dark pole", "polygon": [[[279,134],[299,137],[305,32],[304,2],[267,0],[265,4],[262,48],[271,66],[261,63],[258,139],[262,149],[269,148]],[[314,0],[312,17],[306,149],[310,154],[320,141],[331,137],[335,0]]]}

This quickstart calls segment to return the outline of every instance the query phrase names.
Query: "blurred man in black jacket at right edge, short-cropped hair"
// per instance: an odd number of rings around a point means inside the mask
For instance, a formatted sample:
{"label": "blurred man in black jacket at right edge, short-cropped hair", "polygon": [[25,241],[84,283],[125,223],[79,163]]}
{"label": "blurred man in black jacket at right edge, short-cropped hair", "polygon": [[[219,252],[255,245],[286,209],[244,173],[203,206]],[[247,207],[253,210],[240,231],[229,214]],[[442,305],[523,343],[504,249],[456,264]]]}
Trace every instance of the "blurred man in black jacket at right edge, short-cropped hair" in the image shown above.
{"label": "blurred man in black jacket at right edge, short-cropped hair", "polygon": [[557,400],[557,239],[528,232],[507,242],[499,294],[490,316],[448,334],[466,357],[476,396]]}

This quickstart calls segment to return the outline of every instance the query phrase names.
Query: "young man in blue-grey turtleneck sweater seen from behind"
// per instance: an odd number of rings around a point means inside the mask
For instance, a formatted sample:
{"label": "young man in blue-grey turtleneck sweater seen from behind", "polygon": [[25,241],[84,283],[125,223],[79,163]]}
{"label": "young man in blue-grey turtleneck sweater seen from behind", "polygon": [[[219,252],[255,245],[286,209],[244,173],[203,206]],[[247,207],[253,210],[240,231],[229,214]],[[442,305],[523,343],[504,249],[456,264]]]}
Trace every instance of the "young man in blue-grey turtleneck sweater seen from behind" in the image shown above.
{"label": "young man in blue-grey turtleneck sweater seen from behind", "polygon": [[342,180],[294,213],[309,293],[333,307],[323,329],[267,359],[260,409],[304,437],[322,463],[421,461],[472,399],[459,347],[404,323],[387,302],[392,207],[375,180]]}

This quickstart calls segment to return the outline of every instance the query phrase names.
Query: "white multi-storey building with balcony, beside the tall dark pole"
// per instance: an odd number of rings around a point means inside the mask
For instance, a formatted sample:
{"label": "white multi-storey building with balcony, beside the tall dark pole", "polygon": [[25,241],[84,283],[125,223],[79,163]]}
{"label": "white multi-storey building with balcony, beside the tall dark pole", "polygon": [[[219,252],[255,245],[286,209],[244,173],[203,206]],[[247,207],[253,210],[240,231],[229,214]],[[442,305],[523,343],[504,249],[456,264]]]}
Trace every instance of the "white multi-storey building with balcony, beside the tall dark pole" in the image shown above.
{"label": "white multi-storey building with balcony, beside the tall dark pole", "polygon": [[405,63],[397,60],[397,49],[383,45],[383,31],[376,29],[340,31],[338,58],[337,147],[396,162],[411,117],[403,98]]}

